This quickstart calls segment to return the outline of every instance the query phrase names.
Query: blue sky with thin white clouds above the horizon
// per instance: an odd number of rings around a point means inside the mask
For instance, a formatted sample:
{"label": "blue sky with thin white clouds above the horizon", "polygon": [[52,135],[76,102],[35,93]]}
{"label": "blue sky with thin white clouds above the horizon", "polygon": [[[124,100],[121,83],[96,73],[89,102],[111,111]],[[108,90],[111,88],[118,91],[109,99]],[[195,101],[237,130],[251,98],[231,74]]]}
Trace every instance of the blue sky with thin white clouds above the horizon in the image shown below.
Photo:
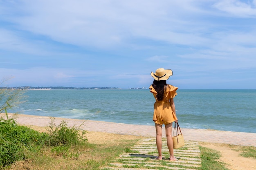
{"label": "blue sky with thin white clouds above the horizon", "polygon": [[0,0],[2,86],[256,89],[256,0]]}

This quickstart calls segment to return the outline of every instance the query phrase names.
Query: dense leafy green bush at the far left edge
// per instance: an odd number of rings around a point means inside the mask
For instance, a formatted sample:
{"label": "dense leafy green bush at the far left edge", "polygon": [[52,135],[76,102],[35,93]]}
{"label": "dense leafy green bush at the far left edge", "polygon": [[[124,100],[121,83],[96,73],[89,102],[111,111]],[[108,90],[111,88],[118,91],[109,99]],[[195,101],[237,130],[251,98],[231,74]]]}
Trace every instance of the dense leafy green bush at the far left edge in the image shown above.
{"label": "dense leafy green bush at the far left edge", "polygon": [[7,166],[25,159],[25,150],[42,145],[46,133],[39,133],[26,126],[19,126],[13,119],[0,119],[0,166]]}

